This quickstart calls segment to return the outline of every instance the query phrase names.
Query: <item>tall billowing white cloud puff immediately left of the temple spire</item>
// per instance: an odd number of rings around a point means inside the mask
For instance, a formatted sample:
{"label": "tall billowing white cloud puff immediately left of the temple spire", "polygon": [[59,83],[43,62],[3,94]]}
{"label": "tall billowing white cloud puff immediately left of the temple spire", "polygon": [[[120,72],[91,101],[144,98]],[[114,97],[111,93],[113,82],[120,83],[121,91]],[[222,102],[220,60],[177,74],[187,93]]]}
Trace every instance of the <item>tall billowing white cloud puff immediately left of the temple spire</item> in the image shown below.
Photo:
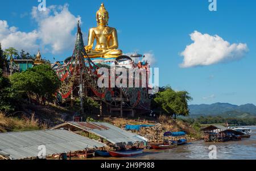
{"label": "tall billowing white cloud puff immediately left of the temple spire", "polygon": [[38,34],[42,45],[49,45],[53,54],[73,48],[76,37],[72,35],[72,31],[76,28],[80,17],[72,15],[67,4],[49,6],[45,13],[33,7],[31,14],[38,22]]}

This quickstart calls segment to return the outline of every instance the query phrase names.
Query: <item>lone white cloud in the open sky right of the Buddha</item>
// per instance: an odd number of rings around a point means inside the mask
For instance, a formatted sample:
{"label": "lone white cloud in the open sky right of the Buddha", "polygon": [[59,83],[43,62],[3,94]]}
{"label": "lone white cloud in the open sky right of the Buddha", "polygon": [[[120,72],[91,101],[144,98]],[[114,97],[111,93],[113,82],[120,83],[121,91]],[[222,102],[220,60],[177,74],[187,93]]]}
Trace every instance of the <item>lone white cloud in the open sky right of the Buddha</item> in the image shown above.
{"label": "lone white cloud in the open sky right of the Buddha", "polygon": [[181,68],[238,60],[248,51],[246,44],[230,44],[218,35],[211,36],[194,31],[190,36],[194,42],[180,53],[184,57]]}

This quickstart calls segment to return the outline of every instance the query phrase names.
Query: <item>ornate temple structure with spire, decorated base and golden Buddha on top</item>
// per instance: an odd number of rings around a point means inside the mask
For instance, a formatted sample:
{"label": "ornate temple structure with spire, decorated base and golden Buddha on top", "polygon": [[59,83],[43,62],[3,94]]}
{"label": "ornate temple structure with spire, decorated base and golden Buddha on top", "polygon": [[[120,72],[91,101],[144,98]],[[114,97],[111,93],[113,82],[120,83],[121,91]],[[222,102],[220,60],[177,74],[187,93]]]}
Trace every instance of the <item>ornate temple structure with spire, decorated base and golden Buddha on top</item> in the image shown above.
{"label": "ornate temple structure with spire, decorated base and golden Buddha on top", "polygon": [[[122,55],[122,51],[118,49],[117,30],[108,26],[109,13],[103,3],[96,13],[96,20],[97,27],[90,28],[87,45],[84,45],[80,24],[77,24],[73,55],[65,59],[62,64],[59,62],[58,65],[53,66],[61,81],[61,87],[56,93],[58,101],[72,104],[74,97],[79,97],[81,100],[85,96],[90,97],[100,103],[100,115],[134,116],[137,112],[140,114],[148,112],[150,110],[148,77],[146,87],[97,85],[100,78],[97,72],[103,66],[109,70],[110,67],[127,70],[143,68],[146,72],[149,72],[150,66],[147,61],[133,60],[142,58],[141,55],[136,54],[131,57]],[[141,78],[134,78],[134,82],[135,79]]]}

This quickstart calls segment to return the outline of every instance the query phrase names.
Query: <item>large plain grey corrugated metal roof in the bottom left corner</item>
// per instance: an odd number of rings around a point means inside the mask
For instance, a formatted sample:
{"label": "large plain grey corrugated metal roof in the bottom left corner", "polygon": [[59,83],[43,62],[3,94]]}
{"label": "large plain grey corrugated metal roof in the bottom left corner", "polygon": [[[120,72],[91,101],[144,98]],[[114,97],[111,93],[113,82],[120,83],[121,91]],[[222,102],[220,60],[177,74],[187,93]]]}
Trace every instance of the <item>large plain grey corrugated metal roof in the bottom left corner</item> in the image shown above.
{"label": "large plain grey corrugated metal roof in the bottom left corner", "polygon": [[104,147],[103,143],[67,130],[7,132],[0,134],[0,155],[10,159],[38,156],[39,145],[46,146],[46,156]]}

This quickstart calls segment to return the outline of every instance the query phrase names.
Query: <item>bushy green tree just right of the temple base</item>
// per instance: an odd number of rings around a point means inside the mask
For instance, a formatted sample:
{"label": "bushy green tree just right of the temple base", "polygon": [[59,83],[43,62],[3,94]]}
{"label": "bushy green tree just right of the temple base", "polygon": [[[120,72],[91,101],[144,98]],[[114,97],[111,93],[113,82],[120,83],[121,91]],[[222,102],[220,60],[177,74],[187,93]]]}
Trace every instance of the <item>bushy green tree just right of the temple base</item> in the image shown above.
{"label": "bushy green tree just right of the temple base", "polygon": [[174,91],[170,86],[167,86],[165,90],[156,94],[152,103],[163,114],[174,115],[176,119],[176,115],[189,115],[188,101],[191,100],[192,97],[189,96],[187,91]]}

